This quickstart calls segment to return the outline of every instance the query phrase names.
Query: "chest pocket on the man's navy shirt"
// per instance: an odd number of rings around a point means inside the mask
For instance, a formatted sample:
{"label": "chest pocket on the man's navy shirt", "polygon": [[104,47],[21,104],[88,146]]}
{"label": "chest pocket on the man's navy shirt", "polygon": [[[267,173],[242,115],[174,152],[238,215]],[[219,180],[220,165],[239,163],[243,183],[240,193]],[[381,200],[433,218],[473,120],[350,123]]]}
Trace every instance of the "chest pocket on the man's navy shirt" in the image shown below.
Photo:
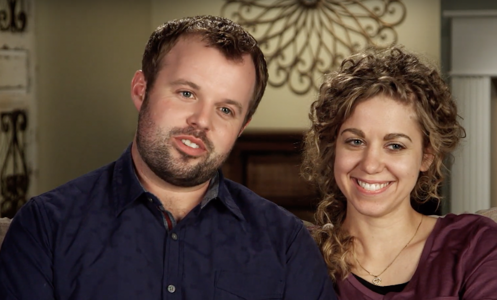
{"label": "chest pocket on the man's navy shirt", "polygon": [[216,272],[215,300],[272,300],[283,298],[281,275]]}

